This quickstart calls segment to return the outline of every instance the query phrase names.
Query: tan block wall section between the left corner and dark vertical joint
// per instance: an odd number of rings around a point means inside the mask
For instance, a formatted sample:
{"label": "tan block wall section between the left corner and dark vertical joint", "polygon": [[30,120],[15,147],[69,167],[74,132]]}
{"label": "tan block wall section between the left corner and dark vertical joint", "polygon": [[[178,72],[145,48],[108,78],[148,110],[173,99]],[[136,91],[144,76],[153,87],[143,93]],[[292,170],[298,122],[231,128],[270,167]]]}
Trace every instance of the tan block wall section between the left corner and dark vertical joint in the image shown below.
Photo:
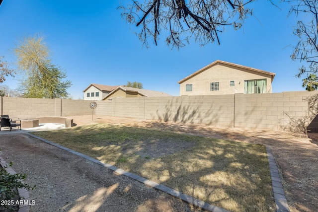
{"label": "tan block wall section between the left corner and dark vertical joint", "polygon": [[234,95],[114,98],[98,101],[97,114],[233,127],[233,106]]}

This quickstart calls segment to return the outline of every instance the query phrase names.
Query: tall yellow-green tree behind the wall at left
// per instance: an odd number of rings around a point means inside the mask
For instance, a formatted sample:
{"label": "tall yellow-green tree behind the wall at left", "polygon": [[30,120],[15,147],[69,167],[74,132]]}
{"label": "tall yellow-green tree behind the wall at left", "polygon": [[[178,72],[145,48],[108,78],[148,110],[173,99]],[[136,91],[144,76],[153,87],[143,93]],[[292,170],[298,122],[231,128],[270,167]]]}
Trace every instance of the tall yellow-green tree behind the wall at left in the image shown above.
{"label": "tall yellow-green tree behind the wall at left", "polygon": [[67,98],[67,89],[72,85],[66,72],[53,65],[44,37],[35,35],[20,41],[14,49],[18,68],[26,71],[21,80],[24,97],[29,98]]}

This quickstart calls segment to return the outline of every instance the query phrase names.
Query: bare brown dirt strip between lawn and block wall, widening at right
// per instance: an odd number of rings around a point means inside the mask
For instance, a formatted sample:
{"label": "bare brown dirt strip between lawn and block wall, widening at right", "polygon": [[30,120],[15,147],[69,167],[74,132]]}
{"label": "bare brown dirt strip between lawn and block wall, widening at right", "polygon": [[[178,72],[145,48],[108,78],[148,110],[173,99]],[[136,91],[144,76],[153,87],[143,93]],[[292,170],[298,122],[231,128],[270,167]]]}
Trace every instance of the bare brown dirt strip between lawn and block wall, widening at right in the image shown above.
{"label": "bare brown dirt strip between lawn and block wall, widening at right", "polygon": [[221,129],[198,124],[160,123],[100,115],[72,118],[77,126],[93,123],[120,124],[268,145],[277,161],[291,212],[318,211],[318,134],[309,134],[307,139],[303,135],[273,130]]}

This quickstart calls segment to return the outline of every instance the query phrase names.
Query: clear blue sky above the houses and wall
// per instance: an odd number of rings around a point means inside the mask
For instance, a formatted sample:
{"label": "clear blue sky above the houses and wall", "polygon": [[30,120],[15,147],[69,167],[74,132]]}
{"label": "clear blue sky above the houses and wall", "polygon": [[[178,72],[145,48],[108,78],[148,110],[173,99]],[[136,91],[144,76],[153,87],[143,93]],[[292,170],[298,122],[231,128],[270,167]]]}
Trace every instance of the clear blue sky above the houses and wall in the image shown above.
{"label": "clear blue sky above the houses and wall", "polygon": [[[293,35],[296,18],[287,18],[288,4],[279,3],[279,9],[269,1],[253,2],[256,17],[249,17],[238,31],[226,28],[219,34],[221,45],[200,47],[192,42],[178,51],[165,45],[164,36],[159,37],[158,46],[150,40],[151,47],[143,47],[136,28],[117,9],[128,1],[3,0],[0,55],[14,68],[15,43],[23,36],[45,36],[52,62],[73,83],[68,89],[73,99],[82,99],[90,83],[123,85],[127,81],[178,96],[180,79],[216,60],[276,73],[273,92],[305,90],[295,77],[301,64],[290,59],[297,37]],[[18,83],[7,77],[1,85],[14,89]]]}

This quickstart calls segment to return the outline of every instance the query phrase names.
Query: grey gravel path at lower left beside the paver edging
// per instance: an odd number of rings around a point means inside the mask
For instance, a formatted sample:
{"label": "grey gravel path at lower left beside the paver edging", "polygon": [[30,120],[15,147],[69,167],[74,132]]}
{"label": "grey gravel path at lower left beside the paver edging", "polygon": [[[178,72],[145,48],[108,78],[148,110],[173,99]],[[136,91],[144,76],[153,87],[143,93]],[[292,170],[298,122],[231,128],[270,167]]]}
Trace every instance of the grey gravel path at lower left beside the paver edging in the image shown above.
{"label": "grey gravel path at lower left beside the paver edging", "polygon": [[3,159],[37,189],[31,212],[184,212],[197,208],[27,134],[1,135]]}

